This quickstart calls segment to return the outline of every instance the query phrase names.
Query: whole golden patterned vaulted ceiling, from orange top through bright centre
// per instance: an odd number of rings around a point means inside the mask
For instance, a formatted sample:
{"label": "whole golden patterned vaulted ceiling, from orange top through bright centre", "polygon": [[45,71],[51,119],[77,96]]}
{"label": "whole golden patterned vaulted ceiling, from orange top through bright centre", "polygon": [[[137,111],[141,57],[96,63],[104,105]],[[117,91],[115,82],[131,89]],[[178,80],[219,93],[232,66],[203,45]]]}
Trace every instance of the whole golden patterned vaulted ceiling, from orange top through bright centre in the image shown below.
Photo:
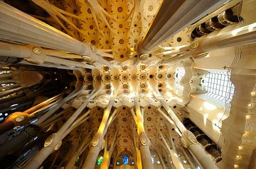
{"label": "whole golden patterned vaulted ceiling, from orange top through bright centre", "polygon": [[[130,58],[138,42],[146,34],[161,1],[65,0],[49,1],[49,3],[48,6],[56,6],[76,17],[65,16],[67,20],[58,21],[51,13],[48,13],[50,16],[46,22],[82,42],[95,45],[98,49],[102,49],[102,52],[107,52],[108,57],[105,59],[114,60],[112,62],[114,67],[102,66],[101,69],[82,73],[87,88],[92,89],[95,86],[102,88],[97,99],[87,105],[94,112],[94,117],[91,118],[92,132],[96,132],[97,127],[100,126],[102,108],[107,107],[110,94],[112,91],[118,91],[114,101],[114,107],[118,109],[116,125],[110,126],[109,130],[112,132],[107,135],[107,142],[112,143],[114,130],[118,129],[118,152],[127,149],[135,153],[133,144],[136,143],[133,140],[138,138],[132,138],[132,136],[137,136],[137,127],[129,109],[134,106],[134,91],[137,90],[139,104],[146,109],[144,115],[146,134],[152,145],[160,146],[158,141],[160,136],[156,134],[156,125],[165,133],[164,136],[167,136],[168,131],[166,122],[157,111],[157,107],[161,104],[155,98],[153,91],[162,93],[166,103],[171,106],[176,103],[184,105],[186,102],[183,102],[182,98],[184,100],[187,98],[183,97],[182,90],[177,90],[174,85],[175,67],[154,66],[159,61],[154,55],[150,55],[148,61],[137,66],[134,66]],[[172,45],[180,44],[172,42]],[[176,92],[173,93],[174,91]],[[76,98],[73,107],[79,107],[84,99],[83,97]],[[179,110],[178,114],[181,115],[182,120],[183,115]],[[130,134],[131,131],[134,134]],[[171,132],[174,132],[172,134],[175,142],[177,141],[176,144],[180,145],[179,136],[175,131]],[[73,138],[73,142],[76,139],[76,137]]]}

